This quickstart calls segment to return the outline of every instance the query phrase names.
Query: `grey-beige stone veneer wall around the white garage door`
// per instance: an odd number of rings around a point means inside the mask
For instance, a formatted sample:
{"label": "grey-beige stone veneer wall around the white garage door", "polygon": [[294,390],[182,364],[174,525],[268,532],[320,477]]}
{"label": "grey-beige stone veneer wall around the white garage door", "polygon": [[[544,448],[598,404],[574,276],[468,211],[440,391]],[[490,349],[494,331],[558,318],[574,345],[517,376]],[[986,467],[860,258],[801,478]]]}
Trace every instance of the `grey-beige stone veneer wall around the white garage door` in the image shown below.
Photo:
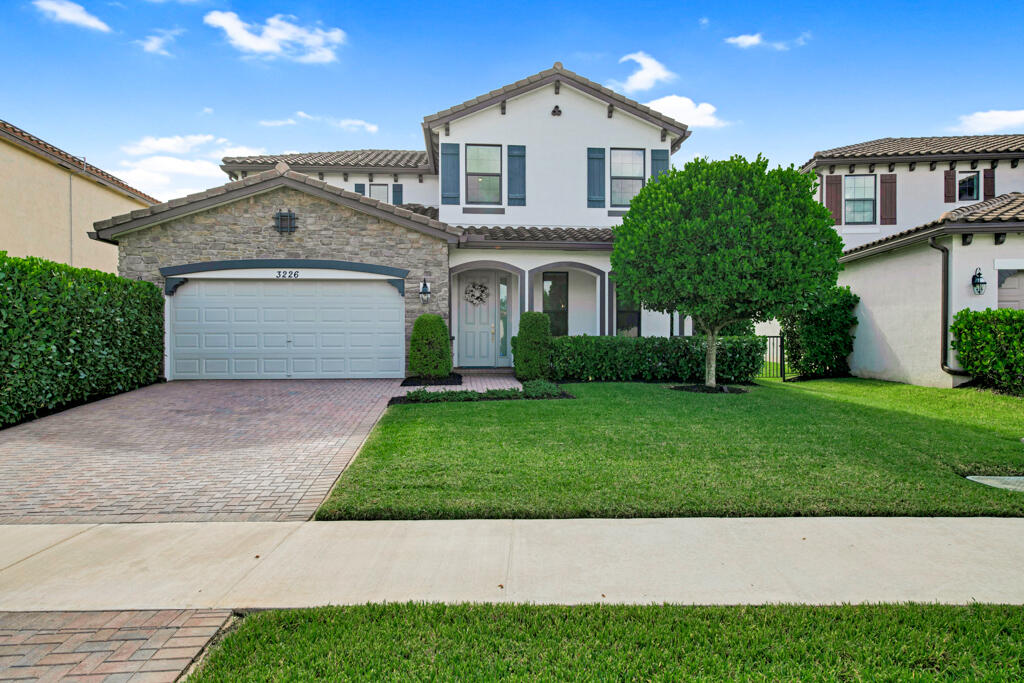
{"label": "grey-beige stone veneer wall around the white garage door", "polygon": [[[273,214],[291,209],[298,229],[273,228]],[[421,313],[449,322],[449,247],[443,240],[290,187],[118,238],[122,276],[164,286],[168,265],[244,258],[323,258],[390,265],[409,270],[406,279],[406,346]],[[420,302],[420,281],[430,283],[430,303]],[[408,355],[408,354],[407,354]]]}

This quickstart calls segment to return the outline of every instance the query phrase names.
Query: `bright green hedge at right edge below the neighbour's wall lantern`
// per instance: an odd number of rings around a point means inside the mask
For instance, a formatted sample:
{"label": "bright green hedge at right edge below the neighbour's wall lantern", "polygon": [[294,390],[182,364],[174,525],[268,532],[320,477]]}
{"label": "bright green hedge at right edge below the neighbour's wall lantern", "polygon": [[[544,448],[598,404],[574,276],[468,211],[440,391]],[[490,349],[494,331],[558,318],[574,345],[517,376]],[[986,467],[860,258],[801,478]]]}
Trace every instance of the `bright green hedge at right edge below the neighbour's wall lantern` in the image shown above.
{"label": "bright green hedge at right edge below the neighbour's wall lantern", "polygon": [[964,370],[985,386],[1024,396],[1024,310],[965,308],[949,331]]}

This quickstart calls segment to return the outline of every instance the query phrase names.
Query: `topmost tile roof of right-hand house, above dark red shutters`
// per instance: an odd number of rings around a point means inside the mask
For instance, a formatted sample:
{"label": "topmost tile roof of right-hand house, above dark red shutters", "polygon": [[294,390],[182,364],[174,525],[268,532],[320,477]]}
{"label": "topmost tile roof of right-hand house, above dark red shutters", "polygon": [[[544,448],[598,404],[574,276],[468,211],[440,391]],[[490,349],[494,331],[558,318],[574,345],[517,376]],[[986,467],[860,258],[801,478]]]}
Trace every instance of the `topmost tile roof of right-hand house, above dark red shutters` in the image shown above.
{"label": "topmost tile roof of right-hand house, above dark red shutters", "polygon": [[807,162],[819,160],[856,160],[892,157],[941,157],[943,155],[1014,155],[1024,156],[1024,134],[946,135],[940,137],[881,137],[877,140],[847,144],[815,152]]}

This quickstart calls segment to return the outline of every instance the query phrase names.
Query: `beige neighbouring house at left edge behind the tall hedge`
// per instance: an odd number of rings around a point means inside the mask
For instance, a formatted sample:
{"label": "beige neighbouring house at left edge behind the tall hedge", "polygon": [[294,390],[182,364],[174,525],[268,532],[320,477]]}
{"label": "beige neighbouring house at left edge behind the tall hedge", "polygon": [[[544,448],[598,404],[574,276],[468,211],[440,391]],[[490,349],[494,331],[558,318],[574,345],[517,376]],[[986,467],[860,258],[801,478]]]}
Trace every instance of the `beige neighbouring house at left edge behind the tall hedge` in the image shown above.
{"label": "beige neighbouring house at left edge behind the tall hedge", "polygon": [[118,250],[92,223],[157,200],[84,159],[0,121],[0,251],[117,272]]}

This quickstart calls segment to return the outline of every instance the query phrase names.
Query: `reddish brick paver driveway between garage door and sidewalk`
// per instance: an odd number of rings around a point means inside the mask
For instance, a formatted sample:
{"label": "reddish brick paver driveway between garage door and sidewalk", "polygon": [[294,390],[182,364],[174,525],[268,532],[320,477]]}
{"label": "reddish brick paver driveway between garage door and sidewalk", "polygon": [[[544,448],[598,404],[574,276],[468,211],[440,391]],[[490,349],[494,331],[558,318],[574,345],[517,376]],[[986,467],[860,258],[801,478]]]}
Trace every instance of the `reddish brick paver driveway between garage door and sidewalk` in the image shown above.
{"label": "reddish brick paver driveway between garage door and sidewalk", "polygon": [[307,519],[398,380],[157,384],[0,431],[0,523]]}

